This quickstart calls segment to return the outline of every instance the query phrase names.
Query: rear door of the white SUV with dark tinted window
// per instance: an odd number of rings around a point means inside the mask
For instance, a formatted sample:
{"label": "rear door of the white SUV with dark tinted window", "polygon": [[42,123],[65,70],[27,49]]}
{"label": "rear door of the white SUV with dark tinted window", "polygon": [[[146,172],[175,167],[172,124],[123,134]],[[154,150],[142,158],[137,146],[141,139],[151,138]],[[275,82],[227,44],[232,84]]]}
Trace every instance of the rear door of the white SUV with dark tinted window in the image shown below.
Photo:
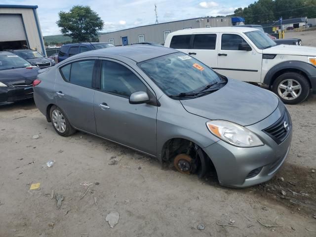
{"label": "rear door of the white SUV with dark tinted window", "polygon": [[211,68],[217,67],[217,35],[195,34],[189,54]]}

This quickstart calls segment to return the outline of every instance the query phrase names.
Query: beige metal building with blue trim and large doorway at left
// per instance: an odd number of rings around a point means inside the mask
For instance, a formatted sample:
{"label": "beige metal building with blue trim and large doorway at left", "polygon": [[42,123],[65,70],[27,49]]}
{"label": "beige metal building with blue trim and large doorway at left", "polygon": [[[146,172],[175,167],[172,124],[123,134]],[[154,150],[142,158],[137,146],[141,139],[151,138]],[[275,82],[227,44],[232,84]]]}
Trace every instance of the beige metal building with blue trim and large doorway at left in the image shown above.
{"label": "beige metal building with blue trim and large doorway at left", "polygon": [[32,48],[46,55],[37,8],[0,4],[0,51]]}

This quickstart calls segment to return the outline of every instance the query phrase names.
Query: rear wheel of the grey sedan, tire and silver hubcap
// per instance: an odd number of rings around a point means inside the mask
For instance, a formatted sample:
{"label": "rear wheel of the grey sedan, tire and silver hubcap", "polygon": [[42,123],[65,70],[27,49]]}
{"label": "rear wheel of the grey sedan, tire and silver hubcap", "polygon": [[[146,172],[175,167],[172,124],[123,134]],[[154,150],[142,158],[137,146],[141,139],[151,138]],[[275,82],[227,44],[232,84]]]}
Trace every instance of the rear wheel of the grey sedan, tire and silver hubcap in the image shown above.
{"label": "rear wheel of the grey sedan, tire and silver hubcap", "polygon": [[50,108],[49,115],[51,124],[59,135],[68,137],[76,132],[76,129],[71,126],[65,113],[59,107],[53,105]]}

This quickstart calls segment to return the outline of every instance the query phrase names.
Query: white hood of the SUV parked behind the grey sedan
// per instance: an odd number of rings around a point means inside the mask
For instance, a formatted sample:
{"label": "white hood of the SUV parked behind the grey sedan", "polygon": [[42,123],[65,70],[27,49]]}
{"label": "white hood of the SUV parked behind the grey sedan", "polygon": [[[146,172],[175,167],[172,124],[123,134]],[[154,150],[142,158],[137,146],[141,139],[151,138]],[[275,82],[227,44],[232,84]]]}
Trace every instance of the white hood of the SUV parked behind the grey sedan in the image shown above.
{"label": "white hood of the SUV parked behind the grey sedan", "polygon": [[301,56],[316,56],[316,47],[279,44],[271,48],[262,50],[262,53],[269,54],[285,54],[285,55],[301,55]]}

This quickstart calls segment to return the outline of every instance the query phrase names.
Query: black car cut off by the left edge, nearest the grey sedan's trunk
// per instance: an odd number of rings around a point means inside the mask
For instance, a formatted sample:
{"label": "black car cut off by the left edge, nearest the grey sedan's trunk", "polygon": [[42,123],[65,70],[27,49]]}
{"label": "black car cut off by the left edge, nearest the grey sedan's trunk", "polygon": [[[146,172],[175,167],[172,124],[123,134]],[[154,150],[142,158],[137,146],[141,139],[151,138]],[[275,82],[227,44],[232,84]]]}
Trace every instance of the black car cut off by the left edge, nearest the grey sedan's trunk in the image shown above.
{"label": "black car cut off by the left edge, nearest the grey sedan's trunk", "polygon": [[0,52],[0,103],[33,98],[32,82],[40,68],[11,52]]}

